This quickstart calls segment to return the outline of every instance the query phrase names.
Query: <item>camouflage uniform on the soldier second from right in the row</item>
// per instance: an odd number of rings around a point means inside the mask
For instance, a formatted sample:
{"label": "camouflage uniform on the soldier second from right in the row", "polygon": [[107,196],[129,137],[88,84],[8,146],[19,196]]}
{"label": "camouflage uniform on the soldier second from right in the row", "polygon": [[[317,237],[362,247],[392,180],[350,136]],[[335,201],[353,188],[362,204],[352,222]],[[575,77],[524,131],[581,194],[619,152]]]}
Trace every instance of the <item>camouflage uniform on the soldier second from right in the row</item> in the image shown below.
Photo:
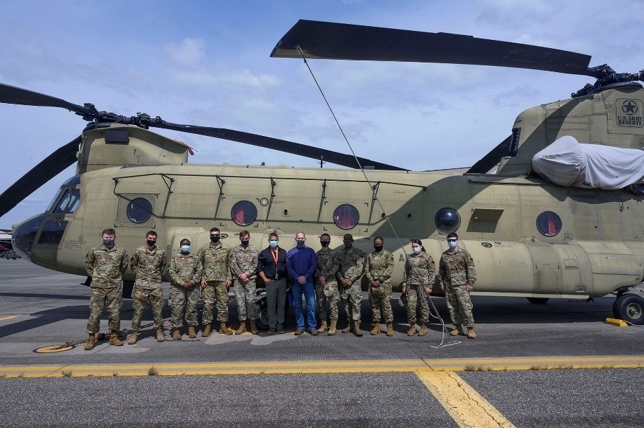
{"label": "camouflage uniform on the soldier second from right in the row", "polygon": [[[403,272],[403,285],[407,286],[407,319],[410,324],[416,322],[416,306],[420,297],[421,323],[429,322],[430,308],[425,299],[425,288],[434,288],[436,281],[436,264],[429,254],[421,251],[419,254],[409,254],[405,262],[405,271]],[[422,289],[422,290],[420,290]]]}

